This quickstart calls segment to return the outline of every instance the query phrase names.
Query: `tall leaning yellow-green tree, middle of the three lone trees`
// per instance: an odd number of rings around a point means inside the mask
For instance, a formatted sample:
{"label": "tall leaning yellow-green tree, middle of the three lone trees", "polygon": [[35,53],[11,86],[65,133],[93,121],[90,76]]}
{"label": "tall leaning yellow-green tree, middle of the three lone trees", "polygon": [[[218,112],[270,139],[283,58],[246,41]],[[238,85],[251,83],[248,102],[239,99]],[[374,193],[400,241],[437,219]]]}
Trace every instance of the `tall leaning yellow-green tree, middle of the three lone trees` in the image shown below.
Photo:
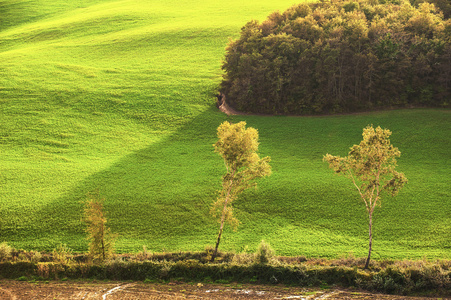
{"label": "tall leaning yellow-green tree, middle of the three lone trees", "polygon": [[258,131],[245,127],[246,122],[222,123],[218,127],[218,141],[213,145],[215,152],[223,157],[227,171],[222,177],[220,195],[211,208],[211,214],[220,217],[221,224],[211,261],[218,253],[224,222],[227,220],[234,229],[238,226],[233,216],[233,201],[242,191],[257,186],[255,179],[271,174],[270,157],[260,158],[257,154]]}

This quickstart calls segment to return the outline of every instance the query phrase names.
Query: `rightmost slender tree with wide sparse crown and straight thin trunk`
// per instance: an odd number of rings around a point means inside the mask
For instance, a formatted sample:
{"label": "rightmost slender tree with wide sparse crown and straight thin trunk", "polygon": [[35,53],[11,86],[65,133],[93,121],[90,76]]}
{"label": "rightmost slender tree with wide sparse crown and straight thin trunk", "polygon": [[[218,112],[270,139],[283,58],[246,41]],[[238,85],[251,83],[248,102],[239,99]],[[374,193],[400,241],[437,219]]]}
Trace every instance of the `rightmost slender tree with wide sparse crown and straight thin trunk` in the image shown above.
{"label": "rightmost slender tree with wide sparse crown and straight thin trunk", "polygon": [[351,147],[348,156],[326,154],[324,160],[339,175],[351,179],[365,203],[369,217],[369,251],[365,269],[368,268],[372,249],[373,212],[381,204],[383,193],[395,196],[407,183],[403,173],[395,171],[398,148],[390,144],[391,131],[373,126],[363,129],[363,140]]}

